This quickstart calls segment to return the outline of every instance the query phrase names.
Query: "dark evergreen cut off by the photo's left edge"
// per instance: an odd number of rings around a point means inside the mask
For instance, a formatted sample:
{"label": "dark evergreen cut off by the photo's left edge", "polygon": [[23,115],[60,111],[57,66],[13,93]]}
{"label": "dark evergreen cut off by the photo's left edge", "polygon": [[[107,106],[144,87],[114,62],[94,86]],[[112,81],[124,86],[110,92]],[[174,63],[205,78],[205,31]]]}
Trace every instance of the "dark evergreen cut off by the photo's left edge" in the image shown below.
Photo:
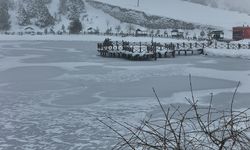
{"label": "dark evergreen cut off by the photo's left edge", "polygon": [[10,15],[7,0],[0,0],[0,30],[10,29]]}

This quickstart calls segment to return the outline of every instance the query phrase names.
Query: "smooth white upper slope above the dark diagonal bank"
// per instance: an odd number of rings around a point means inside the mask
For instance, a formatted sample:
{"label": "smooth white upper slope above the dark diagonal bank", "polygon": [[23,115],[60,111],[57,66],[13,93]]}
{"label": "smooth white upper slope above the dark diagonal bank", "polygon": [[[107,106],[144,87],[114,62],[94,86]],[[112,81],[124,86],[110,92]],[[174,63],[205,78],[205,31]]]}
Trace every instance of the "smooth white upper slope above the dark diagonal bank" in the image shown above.
{"label": "smooth white upper slope above the dark diagonal bank", "polygon": [[233,26],[250,24],[250,16],[244,13],[222,10],[181,0],[96,0],[148,14],[165,16],[191,23],[213,25],[231,29]]}

